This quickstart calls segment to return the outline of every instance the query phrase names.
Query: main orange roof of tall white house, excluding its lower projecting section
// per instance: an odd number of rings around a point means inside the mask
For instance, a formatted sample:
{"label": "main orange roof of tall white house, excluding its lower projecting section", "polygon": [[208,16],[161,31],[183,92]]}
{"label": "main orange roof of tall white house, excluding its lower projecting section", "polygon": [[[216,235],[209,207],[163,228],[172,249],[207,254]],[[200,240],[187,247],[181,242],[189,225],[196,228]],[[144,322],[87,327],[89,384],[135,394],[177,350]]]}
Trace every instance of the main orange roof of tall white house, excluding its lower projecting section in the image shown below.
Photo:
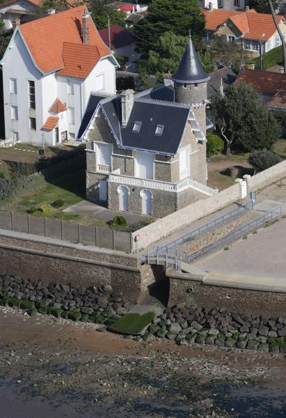
{"label": "main orange roof of tall white house, excluding its lower projecting section", "polygon": [[[49,73],[65,68],[65,52],[63,51],[65,42],[84,46],[81,39],[81,21],[85,10],[86,6],[78,6],[19,25],[19,31],[24,37],[33,60],[42,72]],[[109,55],[111,51],[100,38],[90,17],[88,26],[88,46],[99,48],[99,56]],[[94,61],[94,65],[96,62]],[[71,73],[70,77],[77,77],[77,75]]]}

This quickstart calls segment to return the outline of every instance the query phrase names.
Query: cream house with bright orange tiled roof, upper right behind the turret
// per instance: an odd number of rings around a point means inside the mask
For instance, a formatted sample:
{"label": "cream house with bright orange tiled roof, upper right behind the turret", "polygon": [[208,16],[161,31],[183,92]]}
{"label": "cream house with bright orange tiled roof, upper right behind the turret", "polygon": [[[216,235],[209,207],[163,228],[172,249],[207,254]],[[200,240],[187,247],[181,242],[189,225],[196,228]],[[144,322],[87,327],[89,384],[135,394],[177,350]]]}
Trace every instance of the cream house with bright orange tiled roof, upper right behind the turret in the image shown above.
{"label": "cream house with bright orange tiled roof, upper right behind the turret", "polygon": [[[260,41],[263,52],[281,45],[280,37],[272,15],[257,13],[254,9],[230,11],[223,9],[203,9],[207,38],[212,34],[223,36],[229,42],[241,40],[246,51],[259,55]],[[282,33],[286,35],[285,18],[276,15]]]}

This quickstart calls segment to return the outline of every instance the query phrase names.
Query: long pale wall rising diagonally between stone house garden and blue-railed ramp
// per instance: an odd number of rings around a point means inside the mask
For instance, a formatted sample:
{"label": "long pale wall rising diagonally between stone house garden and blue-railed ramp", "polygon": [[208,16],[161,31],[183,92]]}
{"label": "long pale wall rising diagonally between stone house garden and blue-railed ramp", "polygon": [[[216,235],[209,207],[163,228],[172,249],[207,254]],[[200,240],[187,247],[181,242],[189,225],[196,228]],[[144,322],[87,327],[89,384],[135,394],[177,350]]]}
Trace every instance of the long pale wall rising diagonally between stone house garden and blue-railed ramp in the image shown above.
{"label": "long pale wall rising diagonally between stone house garden and blue-railed ramp", "polygon": [[[255,174],[255,176],[248,178],[247,192],[249,194],[251,191],[266,187],[281,178],[285,178],[285,176],[286,160],[276,164],[270,169],[262,171],[262,173]],[[195,222],[202,217],[216,212],[216,210],[220,210],[239,199],[241,199],[240,187],[239,184],[236,183],[214,196],[196,201],[195,203],[192,203],[177,212],[171,213],[162,219],[158,219],[153,224],[134,232],[132,235],[133,249],[134,251],[136,250],[135,236],[138,234],[140,235],[138,250],[141,250],[152,245],[153,242],[170,235],[170,233],[176,229],[191,224],[191,222]]]}

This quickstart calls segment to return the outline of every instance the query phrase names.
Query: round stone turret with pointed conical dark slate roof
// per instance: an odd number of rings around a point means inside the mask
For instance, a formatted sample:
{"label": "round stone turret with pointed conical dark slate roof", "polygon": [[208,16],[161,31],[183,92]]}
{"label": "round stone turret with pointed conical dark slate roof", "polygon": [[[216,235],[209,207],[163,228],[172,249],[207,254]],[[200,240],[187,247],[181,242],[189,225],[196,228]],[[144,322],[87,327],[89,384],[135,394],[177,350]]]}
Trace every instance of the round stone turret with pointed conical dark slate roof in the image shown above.
{"label": "round stone turret with pointed conical dark slate roof", "polygon": [[192,105],[202,132],[205,134],[205,104],[207,102],[207,82],[210,77],[202,69],[193,47],[191,34],[179,68],[171,78],[174,82],[175,102]]}

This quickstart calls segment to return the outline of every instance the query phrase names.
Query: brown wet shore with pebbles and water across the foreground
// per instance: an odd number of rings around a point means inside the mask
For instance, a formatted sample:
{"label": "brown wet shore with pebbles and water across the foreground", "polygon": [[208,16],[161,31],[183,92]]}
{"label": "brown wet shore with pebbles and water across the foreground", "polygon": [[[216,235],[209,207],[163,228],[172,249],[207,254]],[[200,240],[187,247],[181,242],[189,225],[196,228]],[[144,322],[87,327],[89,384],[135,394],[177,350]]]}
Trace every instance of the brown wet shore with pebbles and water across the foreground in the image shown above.
{"label": "brown wet shore with pebbles and water across the foreground", "polygon": [[278,417],[286,357],[138,343],[0,308],[0,417]]}

